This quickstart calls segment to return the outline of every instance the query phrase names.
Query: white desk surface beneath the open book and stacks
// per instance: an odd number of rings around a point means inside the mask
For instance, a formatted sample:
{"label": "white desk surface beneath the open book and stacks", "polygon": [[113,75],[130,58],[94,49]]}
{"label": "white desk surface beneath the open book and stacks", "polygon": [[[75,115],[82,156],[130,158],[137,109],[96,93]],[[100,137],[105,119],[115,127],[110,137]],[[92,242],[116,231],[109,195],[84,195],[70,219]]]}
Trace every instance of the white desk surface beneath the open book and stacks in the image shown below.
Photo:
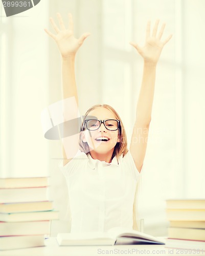
{"label": "white desk surface beneath the open book and stacks", "polygon": [[165,245],[115,245],[115,246],[58,246],[56,238],[49,238],[47,246],[0,251],[0,256],[99,256],[99,255],[204,255],[186,253],[186,250],[165,248]]}

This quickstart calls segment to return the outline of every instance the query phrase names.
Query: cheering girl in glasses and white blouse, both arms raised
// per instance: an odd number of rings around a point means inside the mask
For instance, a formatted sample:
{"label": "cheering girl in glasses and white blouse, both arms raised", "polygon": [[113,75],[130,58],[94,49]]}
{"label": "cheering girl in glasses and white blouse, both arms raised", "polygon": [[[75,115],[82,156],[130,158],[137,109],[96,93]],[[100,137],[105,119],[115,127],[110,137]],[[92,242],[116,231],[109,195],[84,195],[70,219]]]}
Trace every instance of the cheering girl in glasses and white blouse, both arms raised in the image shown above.
{"label": "cheering girl in glasses and white blouse, both arms raised", "polygon": [[[90,34],[75,38],[72,15],[69,14],[68,29],[59,13],[57,16],[60,28],[50,18],[56,34],[47,29],[45,32],[57,42],[62,56],[63,99],[75,97],[78,103],[75,56]],[[95,105],[86,112],[78,142],[80,151],[75,150],[75,157],[67,159],[63,148],[62,172],[69,188],[71,232],[107,231],[115,226],[137,228],[136,187],[147,147],[156,65],[171,38],[170,35],[161,40],[165,24],[157,33],[158,23],[156,20],[150,33],[148,22],[144,47],[130,42],[144,59],[144,71],[129,150],[122,120],[111,106],[105,104]],[[71,147],[76,148],[75,143]]]}

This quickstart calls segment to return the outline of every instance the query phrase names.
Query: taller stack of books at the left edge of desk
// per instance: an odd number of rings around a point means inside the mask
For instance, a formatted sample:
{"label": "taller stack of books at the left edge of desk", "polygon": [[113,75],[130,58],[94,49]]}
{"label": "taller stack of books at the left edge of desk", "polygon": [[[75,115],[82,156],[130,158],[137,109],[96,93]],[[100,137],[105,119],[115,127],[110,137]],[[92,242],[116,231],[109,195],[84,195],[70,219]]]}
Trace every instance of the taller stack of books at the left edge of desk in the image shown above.
{"label": "taller stack of books at the left edge of desk", "polygon": [[44,246],[58,211],[48,177],[0,179],[0,250]]}

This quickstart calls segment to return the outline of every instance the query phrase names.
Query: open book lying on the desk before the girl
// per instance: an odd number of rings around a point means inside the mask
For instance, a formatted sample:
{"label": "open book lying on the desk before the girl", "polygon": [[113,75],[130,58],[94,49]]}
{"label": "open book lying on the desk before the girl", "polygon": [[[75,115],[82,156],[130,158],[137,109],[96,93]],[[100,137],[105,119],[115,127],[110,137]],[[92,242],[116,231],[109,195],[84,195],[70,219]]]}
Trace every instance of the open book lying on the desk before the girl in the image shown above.
{"label": "open book lying on the desk before the girl", "polygon": [[56,239],[60,246],[165,244],[162,239],[122,227],[113,227],[107,232],[59,233]]}

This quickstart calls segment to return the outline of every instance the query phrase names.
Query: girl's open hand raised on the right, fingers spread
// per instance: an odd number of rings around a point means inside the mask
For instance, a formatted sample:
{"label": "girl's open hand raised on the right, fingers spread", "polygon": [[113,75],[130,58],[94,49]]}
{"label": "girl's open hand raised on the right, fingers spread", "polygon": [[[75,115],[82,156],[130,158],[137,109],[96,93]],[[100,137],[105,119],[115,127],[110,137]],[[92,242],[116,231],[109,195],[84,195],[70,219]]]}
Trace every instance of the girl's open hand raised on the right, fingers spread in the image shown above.
{"label": "girl's open hand raised on the right, fingers spread", "polygon": [[160,20],[156,20],[152,35],[150,35],[150,22],[147,23],[146,41],[144,47],[139,47],[135,42],[130,42],[130,45],[132,45],[143,57],[144,62],[156,64],[160,58],[163,47],[172,37],[172,35],[169,35],[164,41],[161,40],[165,29],[165,23],[162,25],[162,28],[157,35],[159,22]]}

